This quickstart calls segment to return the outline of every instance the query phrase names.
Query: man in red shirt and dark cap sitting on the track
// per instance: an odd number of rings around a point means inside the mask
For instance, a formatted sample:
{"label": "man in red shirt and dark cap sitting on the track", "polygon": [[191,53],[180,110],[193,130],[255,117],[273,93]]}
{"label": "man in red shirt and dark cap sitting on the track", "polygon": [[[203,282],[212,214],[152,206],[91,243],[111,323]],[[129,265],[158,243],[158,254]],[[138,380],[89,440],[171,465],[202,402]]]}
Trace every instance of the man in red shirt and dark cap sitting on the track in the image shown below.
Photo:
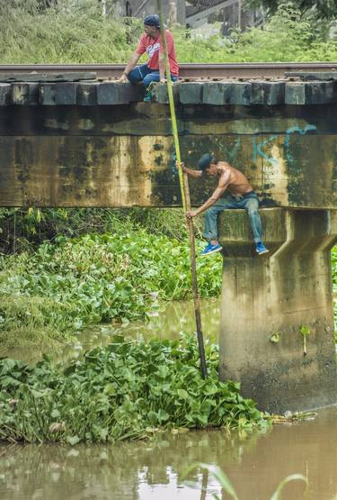
{"label": "man in red shirt and dark cap sitting on the track", "polygon": [[[169,56],[171,78],[176,81],[179,77],[179,67],[175,58],[175,49],[172,33],[165,30],[167,51]],[[137,61],[146,52],[148,61],[137,66]],[[165,81],[164,48],[161,41],[160,21],[156,14],[147,15],[144,19],[144,33],[140,37],[137,49],[132,54],[128,66],[124,69],[120,82],[130,81],[133,84],[142,82],[146,87],[145,101],[151,101],[149,85],[151,82]]]}

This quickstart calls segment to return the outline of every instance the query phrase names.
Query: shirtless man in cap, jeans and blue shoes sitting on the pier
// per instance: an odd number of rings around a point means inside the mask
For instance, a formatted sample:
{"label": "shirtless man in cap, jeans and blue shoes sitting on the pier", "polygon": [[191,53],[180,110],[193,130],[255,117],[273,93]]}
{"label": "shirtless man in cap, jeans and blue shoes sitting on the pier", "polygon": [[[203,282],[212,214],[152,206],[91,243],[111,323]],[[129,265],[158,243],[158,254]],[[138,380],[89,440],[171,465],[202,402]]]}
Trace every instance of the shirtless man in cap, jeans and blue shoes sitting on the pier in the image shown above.
{"label": "shirtless man in cap, jeans and blue shoes sitting on the pier", "polygon": [[[207,247],[201,252],[201,256],[216,253],[222,250],[217,238],[217,216],[226,208],[245,208],[251,223],[256,251],[259,255],[269,252],[262,243],[262,223],[259,215],[259,200],[244,174],[232,167],[226,161],[218,161],[211,154],[204,154],[199,160],[200,170],[186,168],[182,164],[182,170],[191,177],[200,178],[203,174],[218,177],[217,189],[207,202],[197,210],[189,211],[189,218],[196,217],[206,210],[204,237],[208,240]],[[222,195],[228,189],[229,194]]]}

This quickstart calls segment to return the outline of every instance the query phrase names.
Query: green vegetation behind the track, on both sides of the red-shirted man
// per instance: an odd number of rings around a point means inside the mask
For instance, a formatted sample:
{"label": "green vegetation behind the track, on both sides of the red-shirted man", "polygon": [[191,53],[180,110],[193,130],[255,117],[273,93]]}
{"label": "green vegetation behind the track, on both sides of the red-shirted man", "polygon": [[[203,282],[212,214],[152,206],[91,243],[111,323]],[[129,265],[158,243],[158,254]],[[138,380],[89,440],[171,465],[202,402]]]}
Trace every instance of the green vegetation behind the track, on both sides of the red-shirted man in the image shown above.
{"label": "green vegetation behind the track, on both sides of the red-shirted man", "polygon": [[[271,3],[271,2],[270,2]],[[303,2],[301,2],[303,4]],[[3,7],[0,15],[2,63],[126,63],[142,32],[140,20],[103,17],[96,0],[65,2],[39,9],[35,0]],[[317,15],[303,16],[298,2],[275,3],[263,29],[205,38],[193,31],[174,30],[180,62],[336,60],[337,41],[328,40],[328,24]],[[324,2],[331,5],[335,2]],[[334,7],[333,7],[334,8]]]}

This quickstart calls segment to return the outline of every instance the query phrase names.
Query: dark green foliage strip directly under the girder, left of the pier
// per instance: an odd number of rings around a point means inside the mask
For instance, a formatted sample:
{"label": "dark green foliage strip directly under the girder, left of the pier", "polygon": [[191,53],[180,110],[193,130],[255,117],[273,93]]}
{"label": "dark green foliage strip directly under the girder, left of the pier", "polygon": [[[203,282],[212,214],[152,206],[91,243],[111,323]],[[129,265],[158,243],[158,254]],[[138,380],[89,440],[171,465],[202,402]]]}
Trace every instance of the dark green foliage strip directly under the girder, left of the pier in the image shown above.
{"label": "dark green foliage strip directly under the girder, left of the pier", "polygon": [[[131,232],[139,227],[179,241],[188,237],[180,208],[0,208],[0,251],[33,250],[58,235]],[[200,234],[198,221],[196,229]]]}

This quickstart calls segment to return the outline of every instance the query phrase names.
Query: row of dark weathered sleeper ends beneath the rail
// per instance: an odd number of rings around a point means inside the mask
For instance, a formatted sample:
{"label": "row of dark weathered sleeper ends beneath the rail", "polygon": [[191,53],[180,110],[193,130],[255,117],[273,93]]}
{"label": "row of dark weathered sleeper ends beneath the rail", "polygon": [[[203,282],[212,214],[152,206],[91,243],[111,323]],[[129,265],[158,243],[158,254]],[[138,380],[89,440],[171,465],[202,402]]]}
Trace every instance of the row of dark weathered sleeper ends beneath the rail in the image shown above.
{"label": "row of dark weathered sleeper ends beneath the rail", "polygon": [[[80,78],[80,73],[77,76],[75,79]],[[0,106],[17,104],[11,86],[31,82],[38,85],[40,105],[122,105],[142,101],[144,96],[142,86],[93,79],[95,92],[92,100],[85,102],[81,95],[87,88],[86,81],[66,79],[66,82],[53,82],[50,76],[46,76],[44,82],[37,82],[39,78],[43,80],[43,77],[33,75],[27,76],[26,81],[15,77],[14,83],[0,83]],[[83,78],[88,80],[90,73],[84,74]],[[62,75],[59,78],[64,79]],[[279,81],[178,82],[173,85],[173,89],[177,104],[182,105],[332,105],[337,102],[337,80],[331,77],[327,77],[327,81],[322,77],[317,77],[316,81],[298,81],[295,86],[287,78]],[[167,102],[165,85],[157,84],[153,94],[154,101]],[[28,100],[27,105],[34,103]]]}

